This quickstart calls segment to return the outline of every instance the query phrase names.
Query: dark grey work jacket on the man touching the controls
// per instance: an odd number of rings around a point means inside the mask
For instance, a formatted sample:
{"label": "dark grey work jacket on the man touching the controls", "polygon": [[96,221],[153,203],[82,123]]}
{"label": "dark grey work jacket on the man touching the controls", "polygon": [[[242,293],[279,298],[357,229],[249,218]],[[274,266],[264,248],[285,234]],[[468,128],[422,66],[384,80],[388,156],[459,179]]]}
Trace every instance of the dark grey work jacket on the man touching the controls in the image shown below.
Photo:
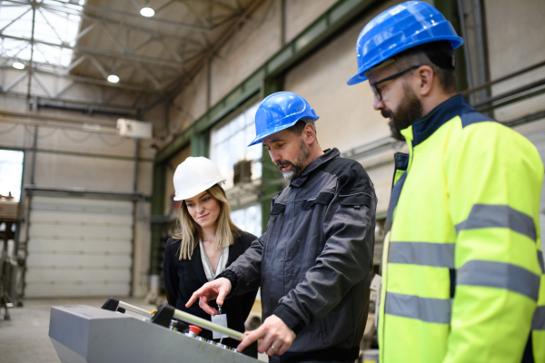
{"label": "dark grey work jacket on the man touching the controls", "polygon": [[297,334],[282,361],[358,358],[376,204],[362,165],[328,149],[272,199],[263,236],[220,275],[230,296],[261,287],[263,319],[274,314]]}

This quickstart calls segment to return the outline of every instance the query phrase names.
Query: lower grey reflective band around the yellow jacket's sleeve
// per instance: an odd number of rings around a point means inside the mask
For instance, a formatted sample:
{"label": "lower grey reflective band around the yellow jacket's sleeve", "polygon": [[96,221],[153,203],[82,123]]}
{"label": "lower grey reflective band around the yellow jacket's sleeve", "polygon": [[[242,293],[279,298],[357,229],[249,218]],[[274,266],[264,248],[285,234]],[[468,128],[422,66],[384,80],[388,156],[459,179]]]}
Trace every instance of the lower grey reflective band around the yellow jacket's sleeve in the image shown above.
{"label": "lower grey reflective band around the yellow jacket's sleeve", "polygon": [[470,260],[457,273],[457,285],[508,289],[535,301],[540,293],[540,275],[519,266],[490,260]]}

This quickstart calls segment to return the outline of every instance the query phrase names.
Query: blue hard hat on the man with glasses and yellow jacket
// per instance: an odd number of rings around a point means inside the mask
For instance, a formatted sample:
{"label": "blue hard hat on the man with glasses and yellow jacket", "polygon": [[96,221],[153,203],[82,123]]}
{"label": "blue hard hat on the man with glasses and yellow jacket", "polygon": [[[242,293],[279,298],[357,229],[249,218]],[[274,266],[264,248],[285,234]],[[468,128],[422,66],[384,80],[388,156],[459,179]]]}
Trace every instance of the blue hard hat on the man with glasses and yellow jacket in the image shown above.
{"label": "blue hard hat on the man with glasses and yellow jacket", "polygon": [[463,44],[451,23],[435,7],[422,1],[395,5],[365,25],[358,36],[358,74],[348,84],[367,81],[365,73],[395,54],[414,46],[450,41],[452,49]]}

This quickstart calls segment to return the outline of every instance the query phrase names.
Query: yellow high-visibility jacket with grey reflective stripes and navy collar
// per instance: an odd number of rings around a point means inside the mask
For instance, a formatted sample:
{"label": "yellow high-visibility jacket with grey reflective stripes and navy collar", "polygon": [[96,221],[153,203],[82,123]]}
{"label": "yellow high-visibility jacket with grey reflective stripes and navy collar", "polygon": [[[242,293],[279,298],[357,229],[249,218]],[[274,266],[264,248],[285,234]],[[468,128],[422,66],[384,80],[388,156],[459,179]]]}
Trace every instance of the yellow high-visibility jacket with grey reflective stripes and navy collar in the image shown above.
{"label": "yellow high-visibility jacket with grey reflective stripes and navy collar", "polygon": [[545,362],[543,164],[461,95],[402,131],[382,256],[381,363]]}

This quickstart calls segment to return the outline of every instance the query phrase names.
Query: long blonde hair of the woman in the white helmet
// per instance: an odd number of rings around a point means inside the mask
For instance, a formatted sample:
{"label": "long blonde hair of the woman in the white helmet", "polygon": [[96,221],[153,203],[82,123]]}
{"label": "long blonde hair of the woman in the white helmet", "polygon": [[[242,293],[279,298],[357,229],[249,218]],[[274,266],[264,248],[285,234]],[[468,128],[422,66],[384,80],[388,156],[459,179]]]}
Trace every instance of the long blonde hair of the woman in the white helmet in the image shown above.
{"label": "long blonde hair of the woman in the white helmet", "polygon": [[[239,237],[239,228],[231,221],[231,207],[223,188],[215,184],[207,190],[213,198],[220,203],[220,214],[216,220],[216,248],[227,247],[233,244],[233,238]],[[180,257],[178,260],[191,260],[193,250],[197,247],[199,240],[202,239],[201,226],[193,220],[193,217],[187,211],[185,201],[182,201],[178,211],[178,230],[179,233],[173,235],[176,240],[182,240],[180,243]]]}

